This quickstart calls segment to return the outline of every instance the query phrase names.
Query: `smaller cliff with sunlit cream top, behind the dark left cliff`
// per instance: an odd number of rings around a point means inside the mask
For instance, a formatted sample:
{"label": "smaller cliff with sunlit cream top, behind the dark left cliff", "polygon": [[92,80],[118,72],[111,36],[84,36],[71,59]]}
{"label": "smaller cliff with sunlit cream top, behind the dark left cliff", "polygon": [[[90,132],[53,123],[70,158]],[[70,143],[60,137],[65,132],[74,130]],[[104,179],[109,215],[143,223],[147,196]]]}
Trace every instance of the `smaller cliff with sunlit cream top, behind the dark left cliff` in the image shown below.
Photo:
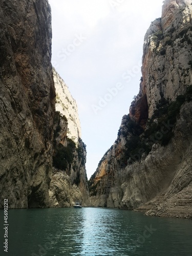
{"label": "smaller cliff with sunlit cream top, behind the dark left cliff", "polygon": [[90,205],[86,174],[86,145],[80,139],[77,104],[66,83],[53,69],[56,89],[54,119],[53,176],[50,183],[50,206],[70,207],[74,201]]}

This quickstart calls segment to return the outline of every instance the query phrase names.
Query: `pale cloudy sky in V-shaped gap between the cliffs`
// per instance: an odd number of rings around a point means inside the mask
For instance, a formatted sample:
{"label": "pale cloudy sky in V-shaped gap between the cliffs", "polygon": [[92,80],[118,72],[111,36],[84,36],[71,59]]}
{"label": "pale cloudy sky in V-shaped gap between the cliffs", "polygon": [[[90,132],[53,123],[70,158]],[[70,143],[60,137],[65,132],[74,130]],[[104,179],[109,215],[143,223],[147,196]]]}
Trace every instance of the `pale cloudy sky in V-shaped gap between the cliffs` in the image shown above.
{"label": "pale cloudy sky in V-shaped gap between the cliffs", "polygon": [[143,41],[162,0],[49,0],[52,65],[77,102],[87,176],[117,139],[139,92]]}

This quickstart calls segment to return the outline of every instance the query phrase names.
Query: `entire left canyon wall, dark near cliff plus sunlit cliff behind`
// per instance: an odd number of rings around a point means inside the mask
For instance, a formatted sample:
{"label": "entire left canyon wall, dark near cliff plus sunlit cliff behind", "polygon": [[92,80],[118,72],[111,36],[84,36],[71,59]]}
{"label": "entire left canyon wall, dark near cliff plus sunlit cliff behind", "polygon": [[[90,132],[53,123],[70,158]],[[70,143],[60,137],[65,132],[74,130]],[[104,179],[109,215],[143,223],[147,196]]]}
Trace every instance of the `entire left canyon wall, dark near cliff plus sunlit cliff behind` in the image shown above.
{"label": "entire left canyon wall, dark near cliff plus sunlit cliff behind", "polygon": [[0,12],[0,208],[89,204],[77,106],[51,64],[50,5],[8,0]]}

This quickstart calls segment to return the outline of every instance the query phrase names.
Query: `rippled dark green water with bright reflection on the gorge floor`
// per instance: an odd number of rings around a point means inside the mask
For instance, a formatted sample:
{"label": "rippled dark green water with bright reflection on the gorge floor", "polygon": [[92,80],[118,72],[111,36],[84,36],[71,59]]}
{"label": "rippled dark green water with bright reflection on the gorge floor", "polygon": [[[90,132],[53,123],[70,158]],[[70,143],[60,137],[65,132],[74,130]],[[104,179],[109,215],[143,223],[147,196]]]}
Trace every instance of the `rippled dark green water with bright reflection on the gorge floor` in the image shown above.
{"label": "rippled dark green water with bright reflection on the gorge floor", "polygon": [[8,214],[7,253],[0,211],[0,255],[192,255],[192,220],[107,208],[10,209]]}

